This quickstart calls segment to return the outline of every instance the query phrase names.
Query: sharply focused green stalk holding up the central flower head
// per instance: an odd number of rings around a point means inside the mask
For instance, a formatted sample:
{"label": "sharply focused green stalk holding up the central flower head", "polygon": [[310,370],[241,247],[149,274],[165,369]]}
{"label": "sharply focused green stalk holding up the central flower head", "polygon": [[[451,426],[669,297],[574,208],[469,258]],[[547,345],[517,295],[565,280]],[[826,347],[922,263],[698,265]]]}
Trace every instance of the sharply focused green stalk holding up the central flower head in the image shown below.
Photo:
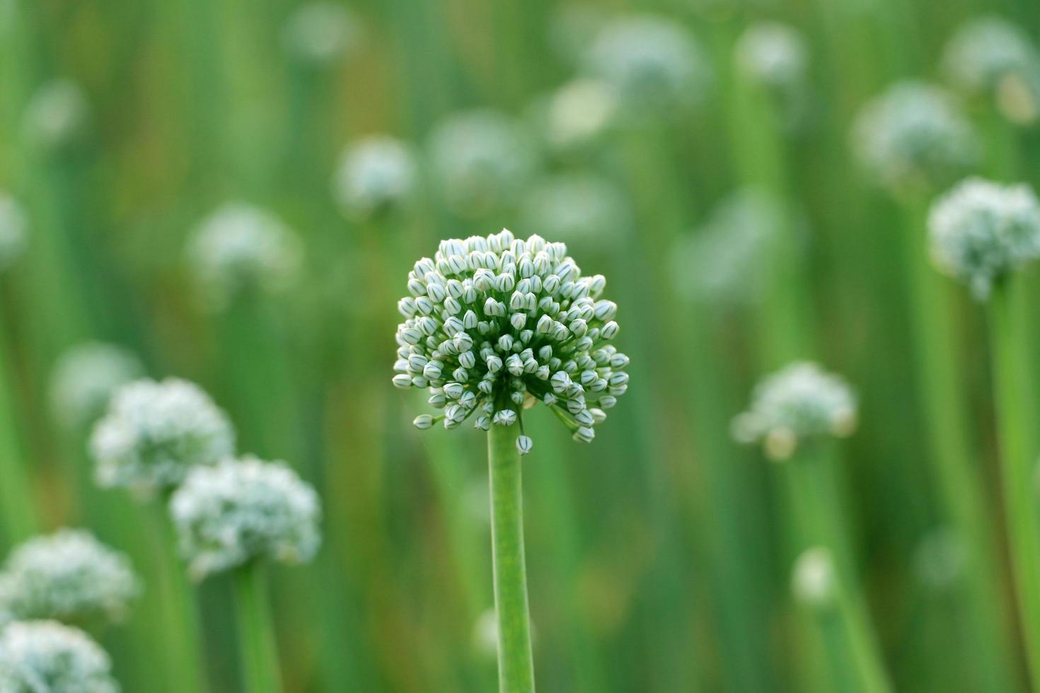
{"label": "sharply focused green stalk holding up the central flower head", "polygon": [[523,483],[516,438],[519,424],[492,426],[488,433],[491,475],[491,550],[498,615],[498,690],[534,693],[535,663],[527,612],[523,552]]}

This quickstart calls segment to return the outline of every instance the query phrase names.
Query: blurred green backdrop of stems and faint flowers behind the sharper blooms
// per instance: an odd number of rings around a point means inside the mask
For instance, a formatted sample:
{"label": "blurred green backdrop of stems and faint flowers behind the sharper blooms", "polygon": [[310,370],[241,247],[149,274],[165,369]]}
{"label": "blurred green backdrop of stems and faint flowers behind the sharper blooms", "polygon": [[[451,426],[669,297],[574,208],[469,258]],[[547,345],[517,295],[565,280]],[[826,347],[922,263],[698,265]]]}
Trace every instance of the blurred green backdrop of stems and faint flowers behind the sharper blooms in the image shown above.
{"label": "blurred green backdrop of stems and faint flowers behind the sharper blooms", "polygon": [[[951,48],[984,15],[1016,79]],[[36,515],[0,554],[61,526],[127,552],[144,594],[96,635],[124,690],[166,690],[147,513],[95,486],[85,441],[116,380],[184,377],[322,499],[318,558],[272,576],[287,690],[494,690],[485,437],[416,430],[390,378],[412,264],[504,226],[606,275],[631,357],[593,444],[527,418],[541,690],[839,690],[791,596],[782,463],[730,436],[796,358],[859,397],[834,481],[895,688],[1009,690],[978,678],[901,239],[908,196],[1037,182],[1038,26],[1032,0],[0,0],[0,456]],[[908,79],[972,141],[927,182],[899,161],[916,140],[854,125]],[[955,294],[996,527],[984,321]],[[242,690],[228,594],[200,586],[213,691]]]}

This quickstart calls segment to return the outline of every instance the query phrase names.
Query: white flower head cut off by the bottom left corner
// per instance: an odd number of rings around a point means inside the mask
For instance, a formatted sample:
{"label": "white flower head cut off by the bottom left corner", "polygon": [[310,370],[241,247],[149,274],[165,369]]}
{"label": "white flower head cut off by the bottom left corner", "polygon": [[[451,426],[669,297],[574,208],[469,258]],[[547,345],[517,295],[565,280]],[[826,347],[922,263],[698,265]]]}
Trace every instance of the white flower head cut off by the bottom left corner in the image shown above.
{"label": "white flower head cut off by the bottom left corner", "polygon": [[20,621],[0,631],[0,692],[118,693],[111,661],[78,629]]}

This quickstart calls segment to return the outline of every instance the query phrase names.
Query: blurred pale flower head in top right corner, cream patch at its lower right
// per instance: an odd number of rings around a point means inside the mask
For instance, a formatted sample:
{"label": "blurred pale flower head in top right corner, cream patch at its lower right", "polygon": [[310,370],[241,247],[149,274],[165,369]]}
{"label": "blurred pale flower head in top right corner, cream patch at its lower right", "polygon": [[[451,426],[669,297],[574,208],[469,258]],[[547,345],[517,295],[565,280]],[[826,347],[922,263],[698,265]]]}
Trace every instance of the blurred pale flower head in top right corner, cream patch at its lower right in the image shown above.
{"label": "blurred pale flower head in top right corner, cream patch at its lower right", "polygon": [[1016,123],[1032,123],[1040,108],[1040,52],[1018,26],[995,16],[967,22],[946,44],[943,71],[960,89],[995,98]]}

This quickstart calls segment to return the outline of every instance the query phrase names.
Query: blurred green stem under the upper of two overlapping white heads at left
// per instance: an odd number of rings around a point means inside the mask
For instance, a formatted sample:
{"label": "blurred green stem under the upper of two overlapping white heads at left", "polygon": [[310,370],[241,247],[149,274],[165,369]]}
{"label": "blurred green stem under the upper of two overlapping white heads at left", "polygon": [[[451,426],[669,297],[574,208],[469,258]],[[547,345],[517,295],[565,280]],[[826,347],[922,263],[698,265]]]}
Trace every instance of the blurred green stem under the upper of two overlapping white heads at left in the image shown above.
{"label": "blurred green stem under the upper of two overlapping white heads at left", "polygon": [[149,508],[153,523],[158,563],[162,575],[162,620],[166,625],[166,665],[170,690],[176,693],[204,693],[200,647],[199,605],[177,554],[177,539],[165,515],[165,503]]}

